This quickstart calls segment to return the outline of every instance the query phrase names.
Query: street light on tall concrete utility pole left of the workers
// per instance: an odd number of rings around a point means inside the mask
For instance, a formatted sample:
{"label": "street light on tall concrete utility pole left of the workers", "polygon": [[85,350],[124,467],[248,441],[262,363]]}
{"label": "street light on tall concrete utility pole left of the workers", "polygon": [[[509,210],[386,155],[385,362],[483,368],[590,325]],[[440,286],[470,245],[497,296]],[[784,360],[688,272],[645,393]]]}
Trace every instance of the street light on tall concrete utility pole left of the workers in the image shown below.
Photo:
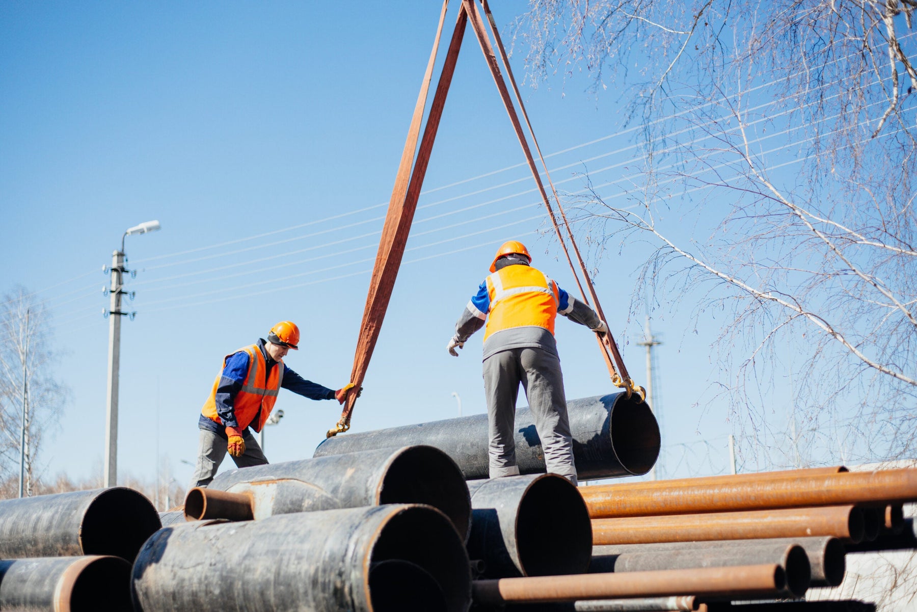
{"label": "street light on tall concrete utility pole left of the workers", "polygon": [[147,234],[159,228],[159,221],[145,221],[133,228],[127,228],[121,237],[121,250],[112,253],[111,287],[108,290],[111,301],[109,309],[105,312],[105,317],[108,317],[108,397],[105,401],[104,478],[106,487],[115,486],[117,483],[117,385],[121,362],[121,317],[129,315],[133,318],[136,314],[121,310],[121,295],[125,294],[124,273],[129,272],[124,267],[127,261],[124,254],[124,239],[133,234]]}

